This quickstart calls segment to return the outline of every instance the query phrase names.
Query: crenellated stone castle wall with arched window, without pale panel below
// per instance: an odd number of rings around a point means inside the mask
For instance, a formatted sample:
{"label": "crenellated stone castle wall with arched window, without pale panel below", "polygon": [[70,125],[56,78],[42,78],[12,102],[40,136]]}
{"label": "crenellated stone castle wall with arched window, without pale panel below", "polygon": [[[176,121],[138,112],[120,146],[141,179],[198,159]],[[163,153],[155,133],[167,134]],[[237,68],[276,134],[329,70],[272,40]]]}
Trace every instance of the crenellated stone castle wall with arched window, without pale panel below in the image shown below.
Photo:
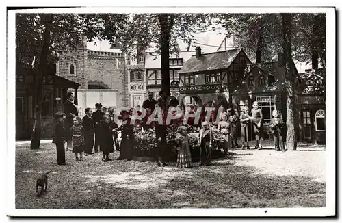
{"label": "crenellated stone castle wall with arched window, without pale panel below", "polygon": [[[70,66],[75,66],[74,74],[70,73]],[[101,83],[103,88],[118,90],[117,106],[128,105],[127,77],[122,53],[90,51],[83,48],[66,49],[57,64],[57,75],[80,83],[79,89],[87,90],[96,87],[89,83]],[[103,89],[102,89],[103,90]],[[98,88],[101,92],[101,88]]]}

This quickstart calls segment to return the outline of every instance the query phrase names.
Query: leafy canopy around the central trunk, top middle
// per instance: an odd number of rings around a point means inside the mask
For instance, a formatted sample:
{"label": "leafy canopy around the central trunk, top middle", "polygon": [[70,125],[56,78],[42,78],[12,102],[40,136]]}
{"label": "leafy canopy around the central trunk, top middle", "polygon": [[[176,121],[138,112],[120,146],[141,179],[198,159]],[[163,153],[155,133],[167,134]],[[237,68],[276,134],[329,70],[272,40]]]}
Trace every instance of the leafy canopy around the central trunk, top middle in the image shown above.
{"label": "leafy canopy around the central trunk, top middle", "polygon": [[[194,33],[207,31],[213,25],[214,14],[168,14],[168,27],[170,31],[170,53],[177,53],[179,48],[176,41],[190,42],[194,40]],[[118,40],[113,35],[115,29],[110,27],[115,23],[111,19],[105,23],[105,29],[100,34],[109,42]],[[131,14],[128,23],[124,25],[124,34],[120,35],[120,42],[124,51],[136,57],[137,45],[142,49],[154,49],[154,54],[161,53],[161,25],[159,14]]]}

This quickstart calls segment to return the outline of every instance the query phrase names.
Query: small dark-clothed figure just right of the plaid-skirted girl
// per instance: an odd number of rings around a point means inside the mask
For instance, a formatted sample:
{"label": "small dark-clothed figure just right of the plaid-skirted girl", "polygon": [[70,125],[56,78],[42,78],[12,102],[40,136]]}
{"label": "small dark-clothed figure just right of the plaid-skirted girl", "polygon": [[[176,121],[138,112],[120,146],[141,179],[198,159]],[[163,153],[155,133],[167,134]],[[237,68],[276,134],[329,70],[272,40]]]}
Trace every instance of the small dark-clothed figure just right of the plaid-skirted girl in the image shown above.
{"label": "small dark-clothed figure just right of the plaid-skirted girl", "polygon": [[211,131],[210,123],[202,122],[200,129],[200,137],[198,137],[200,145],[200,166],[209,166],[211,161],[211,146],[213,144],[213,132]]}

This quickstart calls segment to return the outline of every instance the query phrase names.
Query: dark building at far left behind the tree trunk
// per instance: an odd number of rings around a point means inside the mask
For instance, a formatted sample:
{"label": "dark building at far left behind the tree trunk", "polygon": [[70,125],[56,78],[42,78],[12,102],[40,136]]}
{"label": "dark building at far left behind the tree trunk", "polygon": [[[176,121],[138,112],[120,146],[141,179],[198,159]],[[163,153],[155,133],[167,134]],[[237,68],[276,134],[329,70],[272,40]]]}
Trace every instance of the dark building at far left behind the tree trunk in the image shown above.
{"label": "dark building at far left behind the tree trunk", "polygon": [[[31,137],[34,126],[34,75],[33,70],[16,66],[16,140]],[[53,135],[53,114],[63,111],[66,92],[77,94],[80,84],[55,75],[51,66],[42,79],[42,124],[40,135],[51,138]],[[77,100],[77,99],[76,99]]]}

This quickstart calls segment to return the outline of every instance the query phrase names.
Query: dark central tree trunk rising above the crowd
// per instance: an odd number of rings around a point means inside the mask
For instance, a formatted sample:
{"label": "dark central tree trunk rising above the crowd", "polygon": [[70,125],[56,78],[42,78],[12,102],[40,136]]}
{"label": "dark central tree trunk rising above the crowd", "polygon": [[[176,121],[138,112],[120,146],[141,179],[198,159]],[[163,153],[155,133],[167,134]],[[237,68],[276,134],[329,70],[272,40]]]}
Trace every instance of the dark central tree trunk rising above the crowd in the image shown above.
{"label": "dark central tree trunk rising above the crowd", "polygon": [[170,21],[168,14],[159,14],[161,29],[161,90],[170,96],[170,66],[169,66],[169,42],[170,42]]}

